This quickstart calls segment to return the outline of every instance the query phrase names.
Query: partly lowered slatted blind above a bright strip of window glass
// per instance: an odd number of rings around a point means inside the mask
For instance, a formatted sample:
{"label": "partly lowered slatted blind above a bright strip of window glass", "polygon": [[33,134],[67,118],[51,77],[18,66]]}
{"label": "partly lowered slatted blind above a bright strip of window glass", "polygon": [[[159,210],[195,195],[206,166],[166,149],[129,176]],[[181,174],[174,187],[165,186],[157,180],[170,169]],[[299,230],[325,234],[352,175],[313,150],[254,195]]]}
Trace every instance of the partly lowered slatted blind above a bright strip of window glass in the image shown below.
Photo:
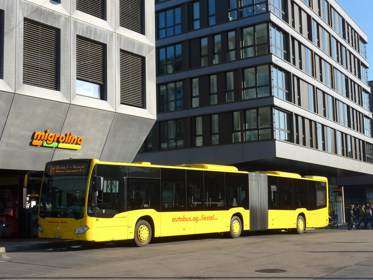
{"label": "partly lowered slatted blind above a bright strip of window glass", "polygon": [[97,84],[104,83],[104,46],[76,37],[76,78]]}

